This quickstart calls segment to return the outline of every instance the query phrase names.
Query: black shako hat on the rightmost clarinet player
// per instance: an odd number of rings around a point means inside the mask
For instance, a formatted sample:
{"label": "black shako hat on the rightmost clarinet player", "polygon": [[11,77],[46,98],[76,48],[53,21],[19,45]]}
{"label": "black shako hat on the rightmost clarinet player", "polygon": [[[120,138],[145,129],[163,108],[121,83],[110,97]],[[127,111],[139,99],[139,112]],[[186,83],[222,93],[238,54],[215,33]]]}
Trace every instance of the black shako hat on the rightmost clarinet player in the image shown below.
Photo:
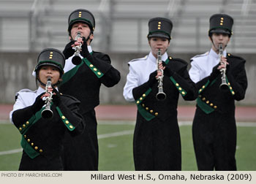
{"label": "black shako hat on the rightmost clarinet player", "polygon": [[232,32],[233,18],[226,14],[214,14],[210,18],[210,29],[208,35],[213,33],[228,34],[230,37]]}

